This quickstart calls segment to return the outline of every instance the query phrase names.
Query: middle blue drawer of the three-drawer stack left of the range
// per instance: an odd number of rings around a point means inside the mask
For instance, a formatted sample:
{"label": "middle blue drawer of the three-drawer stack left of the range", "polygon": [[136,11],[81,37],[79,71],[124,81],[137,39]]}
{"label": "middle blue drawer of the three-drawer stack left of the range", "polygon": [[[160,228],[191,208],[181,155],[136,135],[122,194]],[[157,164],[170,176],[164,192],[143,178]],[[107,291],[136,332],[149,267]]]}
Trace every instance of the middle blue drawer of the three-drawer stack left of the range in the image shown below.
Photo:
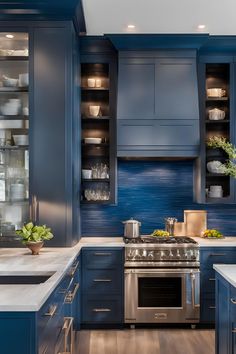
{"label": "middle blue drawer of the three-drawer stack left of the range", "polygon": [[122,279],[119,269],[88,270],[83,280],[84,293],[119,294],[122,291]]}

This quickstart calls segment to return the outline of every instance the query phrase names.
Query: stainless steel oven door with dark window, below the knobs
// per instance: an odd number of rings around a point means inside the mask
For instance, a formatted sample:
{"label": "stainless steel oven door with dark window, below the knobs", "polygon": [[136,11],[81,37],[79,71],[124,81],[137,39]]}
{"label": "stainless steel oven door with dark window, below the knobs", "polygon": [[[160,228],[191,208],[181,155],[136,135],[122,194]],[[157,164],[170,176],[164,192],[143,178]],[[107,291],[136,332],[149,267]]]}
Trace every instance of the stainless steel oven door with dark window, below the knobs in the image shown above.
{"label": "stainless steel oven door with dark window, below the knobs", "polygon": [[126,323],[196,323],[198,269],[125,269]]}

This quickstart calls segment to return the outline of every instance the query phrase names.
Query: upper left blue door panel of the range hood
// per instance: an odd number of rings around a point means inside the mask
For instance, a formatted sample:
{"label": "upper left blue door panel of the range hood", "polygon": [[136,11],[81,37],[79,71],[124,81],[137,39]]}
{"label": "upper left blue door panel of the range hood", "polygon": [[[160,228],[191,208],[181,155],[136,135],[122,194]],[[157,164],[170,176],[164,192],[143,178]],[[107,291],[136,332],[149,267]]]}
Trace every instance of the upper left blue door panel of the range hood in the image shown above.
{"label": "upper left blue door panel of the range hood", "polygon": [[143,59],[120,62],[118,119],[150,119],[155,112],[155,63]]}

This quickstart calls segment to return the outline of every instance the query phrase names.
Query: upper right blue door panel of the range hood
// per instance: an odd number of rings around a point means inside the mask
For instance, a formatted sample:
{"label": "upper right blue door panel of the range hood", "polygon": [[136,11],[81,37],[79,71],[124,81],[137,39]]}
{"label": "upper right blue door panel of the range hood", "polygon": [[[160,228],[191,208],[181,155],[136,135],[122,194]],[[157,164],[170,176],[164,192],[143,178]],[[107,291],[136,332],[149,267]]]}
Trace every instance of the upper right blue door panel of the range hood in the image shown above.
{"label": "upper right blue door panel of the range hood", "polygon": [[199,119],[195,59],[156,60],[155,105],[160,119]]}

